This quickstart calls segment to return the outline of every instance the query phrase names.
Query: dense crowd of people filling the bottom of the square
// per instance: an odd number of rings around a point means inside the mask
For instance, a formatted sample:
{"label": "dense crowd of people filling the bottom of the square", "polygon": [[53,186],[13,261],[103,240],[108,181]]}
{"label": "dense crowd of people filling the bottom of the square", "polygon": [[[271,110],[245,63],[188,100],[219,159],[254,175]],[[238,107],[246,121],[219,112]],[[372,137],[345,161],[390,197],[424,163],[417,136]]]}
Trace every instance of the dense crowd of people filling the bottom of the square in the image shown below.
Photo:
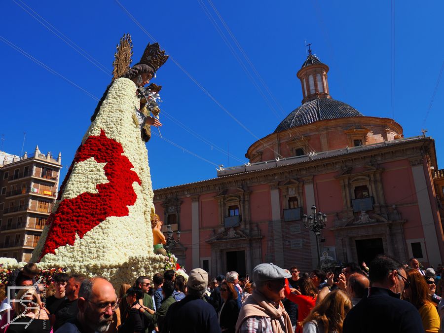
{"label": "dense crowd of people filling the bottom of the square", "polygon": [[[174,270],[124,283],[56,273],[38,286],[37,265],[9,277],[0,305],[0,333],[350,333],[443,332],[441,265],[422,270],[379,255],[341,270],[301,273],[261,263],[239,278],[209,281],[200,268],[188,279]],[[13,300],[13,301],[11,301]]]}

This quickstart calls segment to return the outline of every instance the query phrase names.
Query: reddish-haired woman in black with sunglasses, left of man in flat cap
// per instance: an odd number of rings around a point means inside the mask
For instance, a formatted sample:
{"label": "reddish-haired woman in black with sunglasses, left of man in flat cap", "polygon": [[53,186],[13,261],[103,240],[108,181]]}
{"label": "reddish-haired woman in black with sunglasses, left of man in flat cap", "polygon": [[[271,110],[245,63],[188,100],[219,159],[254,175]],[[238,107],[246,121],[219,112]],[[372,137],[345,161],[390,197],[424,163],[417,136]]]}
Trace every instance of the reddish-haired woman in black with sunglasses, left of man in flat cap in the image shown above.
{"label": "reddish-haired woman in black with sunglasses, left of man in flat cap", "polygon": [[223,303],[218,313],[219,325],[224,333],[234,333],[236,330],[239,307],[237,306],[237,292],[231,282],[222,282],[221,297]]}

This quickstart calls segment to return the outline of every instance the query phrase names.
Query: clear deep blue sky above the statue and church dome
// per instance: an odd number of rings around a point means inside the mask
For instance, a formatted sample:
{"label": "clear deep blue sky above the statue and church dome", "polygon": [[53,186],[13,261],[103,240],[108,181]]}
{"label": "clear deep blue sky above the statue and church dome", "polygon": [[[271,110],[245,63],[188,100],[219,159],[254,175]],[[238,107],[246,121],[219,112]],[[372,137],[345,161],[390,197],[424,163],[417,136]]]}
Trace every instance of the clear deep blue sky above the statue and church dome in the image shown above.
{"label": "clear deep blue sky above the statue and church dome", "polygon": [[[256,138],[272,133],[279,122],[300,105],[302,94],[296,72],[306,58],[304,40],[312,43],[313,53],[330,67],[329,87],[334,99],[350,104],[364,115],[393,117],[403,126],[405,137],[420,135],[422,128],[428,129],[427,135],[436,140],[439,163],[444,160],[441,148],[443,82],[426,117],[444,60],[442,1],[421,5],[416,1],[394,1],[394,44],[390,1],[119,1],[186,72],[253,133],[233,120],[169,60],[154,80],[163,86],[161,107],[165,114],[160,114],[164,125],[161,133],[199,157],[153,137],[147,147],[154,188],[214,178],[215,165],[246,162],[244,154]],[[105,70],[94,66],[19,5],[30,12],[26,6],[32,8]],[[233,56],[202,6],[253,80]],[[97,98],[110,82],[119,38],[124,33],[132,35],[133,64],[139,60],[148,41],[153,41],[111,0],[79,0],[69,4],[3,0],[0,12],[2,38]],[[45,153],[51,151],[56,155],[61,151],[63,164],[69,166],[97,102],[1,40],[0,51],[3,150],[19,154],[23,132],[26,132],[24,150],[32,153],[38,144]],[[268,103],[252,81],[260,87]],[[207,143],[185,131],[176,121]],[[216,147],[225,152],[229,150],[229,157]],[[66,170],[64,168],[63,175]]]}

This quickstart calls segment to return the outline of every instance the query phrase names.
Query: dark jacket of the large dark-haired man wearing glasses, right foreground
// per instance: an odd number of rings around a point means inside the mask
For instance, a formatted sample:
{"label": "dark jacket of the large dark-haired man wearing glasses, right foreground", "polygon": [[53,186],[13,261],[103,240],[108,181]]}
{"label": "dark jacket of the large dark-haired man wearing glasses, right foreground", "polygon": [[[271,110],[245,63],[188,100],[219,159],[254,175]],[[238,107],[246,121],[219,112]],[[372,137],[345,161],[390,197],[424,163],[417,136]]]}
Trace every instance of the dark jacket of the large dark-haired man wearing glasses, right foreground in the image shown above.
{"label": "dark jacket of the large dark-haired man wearing glasses, right foreground", "polygon": [[345,317],[342,332],[421,333],[424,328],[411,303],[388,289],[371,287]]}

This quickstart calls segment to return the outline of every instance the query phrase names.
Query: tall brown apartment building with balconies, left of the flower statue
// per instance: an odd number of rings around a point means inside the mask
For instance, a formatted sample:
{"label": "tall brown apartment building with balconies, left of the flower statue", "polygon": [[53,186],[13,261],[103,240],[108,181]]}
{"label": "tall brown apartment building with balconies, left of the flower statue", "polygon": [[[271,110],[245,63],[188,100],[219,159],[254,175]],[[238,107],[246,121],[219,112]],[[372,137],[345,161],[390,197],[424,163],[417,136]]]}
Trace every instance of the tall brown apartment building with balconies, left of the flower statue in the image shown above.
{"label": "tall brown apartment building with balconies, left of the flower statue", "polygon": [[0,151],[0,257],[28,261],[57,197],[62,155]]}

